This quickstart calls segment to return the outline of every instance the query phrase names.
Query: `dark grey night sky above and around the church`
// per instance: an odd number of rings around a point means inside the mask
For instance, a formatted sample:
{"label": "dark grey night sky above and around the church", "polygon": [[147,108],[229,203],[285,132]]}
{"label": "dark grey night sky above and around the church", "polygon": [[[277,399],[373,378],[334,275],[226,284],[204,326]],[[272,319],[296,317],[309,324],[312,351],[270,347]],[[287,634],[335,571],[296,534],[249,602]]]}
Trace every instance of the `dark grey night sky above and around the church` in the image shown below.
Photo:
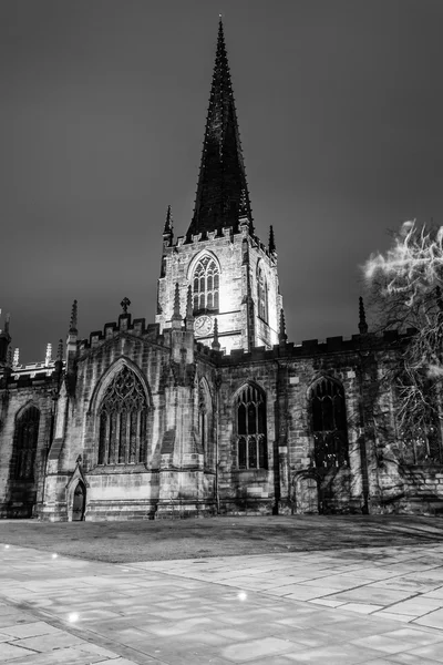
{"label": "dark grey night sky above and around the church", "polygon": [[0,307],[21,361],[65,337],[74,298],[82,337],[124,296],[154,321],[220,12],[290,340],[357,332],[358,266],[402,221],[442,223],[442,0],[1,0]]}

